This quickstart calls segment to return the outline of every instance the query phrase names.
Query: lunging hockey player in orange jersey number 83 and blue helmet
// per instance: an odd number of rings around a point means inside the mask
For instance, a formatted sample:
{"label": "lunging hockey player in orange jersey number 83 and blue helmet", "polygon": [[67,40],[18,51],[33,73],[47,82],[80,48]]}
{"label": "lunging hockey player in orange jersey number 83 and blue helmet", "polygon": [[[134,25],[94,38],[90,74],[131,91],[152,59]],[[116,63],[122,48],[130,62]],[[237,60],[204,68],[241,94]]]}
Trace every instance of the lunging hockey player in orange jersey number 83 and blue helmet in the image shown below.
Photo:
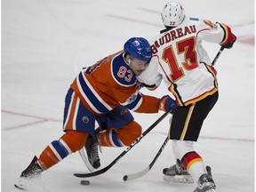
{"label": "lunging hockey player in orange jersey number 83 and blue helmet", "polygon": [[[40,176],[84,145],[92,167],[99,168],[99,145],[129,146],[140,136],[140,124],[134,121],[129,110],[157,113],[159,109],[176,108],[176,101],[169,96],[158,99],[139,92],[136,76],[146,68],[151,57],[148,41],[132,37],[124,44],[123,51],[83,68],[66,95],[65,133],[59,140],[53,140],[39,158],[33,158],[15,186],[26,188],[26,181]],[[95,133],[95,122],[100,132]]]}

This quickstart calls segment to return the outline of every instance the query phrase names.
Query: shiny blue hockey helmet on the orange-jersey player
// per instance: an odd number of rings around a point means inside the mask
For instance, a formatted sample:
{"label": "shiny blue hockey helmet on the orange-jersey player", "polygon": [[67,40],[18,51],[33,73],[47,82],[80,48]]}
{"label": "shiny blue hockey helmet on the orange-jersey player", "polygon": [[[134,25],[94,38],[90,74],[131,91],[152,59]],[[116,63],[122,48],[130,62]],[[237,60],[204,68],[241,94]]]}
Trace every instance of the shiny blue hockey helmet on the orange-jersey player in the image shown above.
{"label": "shiny blue hockey helmet on the orange-jersey player", "polygon": [[124,55],[129,53],[131,60],[136,58],[138,60],[149,61],[152,57],[151,46],[143,37],[132,37],[124,44]]}

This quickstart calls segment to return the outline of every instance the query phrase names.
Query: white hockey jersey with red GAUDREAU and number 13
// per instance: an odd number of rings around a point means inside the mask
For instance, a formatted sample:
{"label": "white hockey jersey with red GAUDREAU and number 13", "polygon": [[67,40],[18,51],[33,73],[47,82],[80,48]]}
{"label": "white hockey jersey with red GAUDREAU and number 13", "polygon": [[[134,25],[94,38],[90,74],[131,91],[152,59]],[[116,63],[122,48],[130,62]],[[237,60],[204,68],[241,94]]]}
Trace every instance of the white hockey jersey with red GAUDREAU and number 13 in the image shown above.
{"label": "white hockey jersey with red GAUDREAU and number 13", "polygon": [[153,57],[140,83],[154,90],[164,79],[179,106],[187,106],[217,92],[216,71],[202,41],[227,44],[231,30],[209,20],[186,18],[180,26],[150,40]]}

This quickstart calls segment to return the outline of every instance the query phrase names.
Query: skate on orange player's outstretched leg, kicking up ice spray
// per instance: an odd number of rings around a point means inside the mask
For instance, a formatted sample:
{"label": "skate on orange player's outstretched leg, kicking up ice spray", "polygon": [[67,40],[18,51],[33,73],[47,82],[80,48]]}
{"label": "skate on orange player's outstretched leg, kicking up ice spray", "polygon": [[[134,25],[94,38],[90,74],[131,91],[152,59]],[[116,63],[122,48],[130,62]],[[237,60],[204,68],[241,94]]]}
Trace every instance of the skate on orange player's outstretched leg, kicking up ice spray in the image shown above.
{"label": "skate on orange player's outstretched leg, kicking up ice spray", "polygon": [[26,189],[30,186],[33,180],[40,178],[43,168],[38,164],[37,157],[34,156],[31,163],[28,165],[27,169],[21,172],[20,180],[14,184],[16,188]]}

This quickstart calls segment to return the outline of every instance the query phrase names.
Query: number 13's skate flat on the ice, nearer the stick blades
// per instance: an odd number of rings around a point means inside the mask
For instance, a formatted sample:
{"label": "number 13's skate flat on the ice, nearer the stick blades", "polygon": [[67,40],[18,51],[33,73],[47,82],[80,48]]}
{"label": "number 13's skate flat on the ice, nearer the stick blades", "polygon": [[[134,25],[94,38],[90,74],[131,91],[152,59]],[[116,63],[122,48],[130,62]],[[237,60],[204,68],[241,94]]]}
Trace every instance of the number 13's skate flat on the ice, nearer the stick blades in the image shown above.
{"label": "number 13's skate flat on the ice, nearer the stick blades", "polygon": [[192,176],[185,169],[184,165],[177,159],[176,164],[170,168],[164,168],[164,180],[180,182],[180,183],[193,183]]}

